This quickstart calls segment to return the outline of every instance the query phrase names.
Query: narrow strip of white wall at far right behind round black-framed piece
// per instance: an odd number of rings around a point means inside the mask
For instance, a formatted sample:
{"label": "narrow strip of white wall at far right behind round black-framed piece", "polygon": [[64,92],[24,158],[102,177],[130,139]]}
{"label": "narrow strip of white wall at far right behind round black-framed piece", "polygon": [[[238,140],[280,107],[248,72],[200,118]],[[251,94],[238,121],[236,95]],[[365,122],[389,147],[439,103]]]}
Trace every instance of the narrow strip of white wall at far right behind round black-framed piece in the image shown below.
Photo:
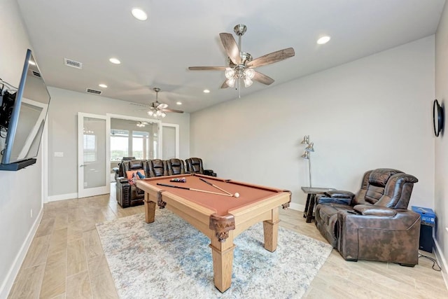
{"label": "narrow strip of white wall at far right behind round black-framed piece", "polygon": [[[435,34],[435,98],[444,108],[445,125],[438,138],[435,138],[435,214],[437,231],[435,246],[437,257],[444,263],[443,274],[448,281],[448,265],[443,257],[448,257],[448,139],[447,103],[448,103],[448,5],[445,4],[440,24]],[[448,282],[447,282],[448,284]]]}

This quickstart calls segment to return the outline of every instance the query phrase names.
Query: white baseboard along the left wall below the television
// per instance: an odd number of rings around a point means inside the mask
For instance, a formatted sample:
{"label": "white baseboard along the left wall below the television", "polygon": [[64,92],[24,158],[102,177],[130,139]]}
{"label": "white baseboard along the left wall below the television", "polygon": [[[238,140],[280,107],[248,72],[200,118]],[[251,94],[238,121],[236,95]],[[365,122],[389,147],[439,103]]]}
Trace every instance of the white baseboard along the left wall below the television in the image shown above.
{"label": "white baseboard along the left wall below the television", "polygon": [[20,250],[17,256],[15,256],[13,265],[10,267],[8,274],[6,274],[6,277],[0,286],[0,298],[8,298],[8,294],[10,293],[11,288],[13,288],[15,278],[17,277],[20,267],[22,266],[23,260],[25,260],[25,256],[27,255],[29,246],[34,239],[34,235],[36,235],[39,223],[41,223],[42,216],[43,208],[41,209],[38,216],[36,217],[36,220],[31,226],[31,230],[29,230],[28,235],[25,238],[25,242],[23,242],[22,246],[20,246]]}

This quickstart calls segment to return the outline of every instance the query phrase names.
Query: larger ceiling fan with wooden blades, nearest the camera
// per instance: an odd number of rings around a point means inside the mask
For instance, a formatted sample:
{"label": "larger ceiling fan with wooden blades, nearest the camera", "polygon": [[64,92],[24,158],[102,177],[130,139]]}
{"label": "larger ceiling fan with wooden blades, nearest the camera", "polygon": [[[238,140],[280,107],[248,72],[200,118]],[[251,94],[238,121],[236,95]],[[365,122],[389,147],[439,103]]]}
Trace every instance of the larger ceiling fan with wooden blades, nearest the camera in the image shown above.
{"label": "larger ceiling fan with wooden blades, nearest the camera", "polygon": [[239,37],[238,45],[232,34],[219,34],[228,55],[228,67],[188,67],[188,69],[190,71],[225,71],[227,80],[221,85],[221,88],[234,87],[235,83],[241,85],[241,79],[246,88],[252,85],[253,80],[265,85],[272,84],[274,79],[253,69],[293,57],[295,55],[294,49],[286,48],[253,59],[252,55],[241,50],[241,36],[244,35],[246,30],[246,25],[239,24],[234,27],[233,31]]}

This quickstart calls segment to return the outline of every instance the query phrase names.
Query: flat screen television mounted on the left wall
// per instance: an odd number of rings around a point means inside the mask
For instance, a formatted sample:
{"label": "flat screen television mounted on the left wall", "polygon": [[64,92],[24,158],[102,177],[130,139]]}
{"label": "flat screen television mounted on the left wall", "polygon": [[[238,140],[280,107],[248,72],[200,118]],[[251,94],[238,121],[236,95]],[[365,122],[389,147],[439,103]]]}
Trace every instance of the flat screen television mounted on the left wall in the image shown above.
{"label": "flat screen television mounted on the left wall", "polygon": [[31,50],[27,50],[17,91],[2,97],[0,170],[18,170],[36,163],[50,104],[50,93]]}

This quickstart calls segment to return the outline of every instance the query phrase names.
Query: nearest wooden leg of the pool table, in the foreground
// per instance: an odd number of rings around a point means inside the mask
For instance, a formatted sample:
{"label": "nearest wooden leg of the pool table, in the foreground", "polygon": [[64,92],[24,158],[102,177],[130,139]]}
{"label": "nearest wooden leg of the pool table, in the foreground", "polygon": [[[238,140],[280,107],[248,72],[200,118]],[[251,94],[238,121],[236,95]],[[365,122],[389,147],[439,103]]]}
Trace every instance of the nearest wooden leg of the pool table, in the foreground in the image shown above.
{"label": "nearest wooden leg of the pool table, in the foreground", "polygon": [[232,284],[233,249],[235,249],[233,230],[229,231],[229,237],[225,239],[225,242],[219,242],[216,235],[213,234],[210,247],[215,286],[223,293]]}

